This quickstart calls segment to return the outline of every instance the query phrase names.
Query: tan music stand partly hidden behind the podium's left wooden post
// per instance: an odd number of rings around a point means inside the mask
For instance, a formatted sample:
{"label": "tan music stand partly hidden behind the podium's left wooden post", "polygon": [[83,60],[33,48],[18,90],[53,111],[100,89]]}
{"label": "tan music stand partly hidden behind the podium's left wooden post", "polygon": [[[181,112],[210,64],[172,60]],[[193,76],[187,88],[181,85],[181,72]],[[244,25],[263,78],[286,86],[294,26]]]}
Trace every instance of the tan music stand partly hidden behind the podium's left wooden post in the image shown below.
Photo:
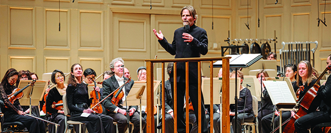
{"label": "tan music stand partly hidden behind the podium's left wooden post", "polygon": [[[153,91],[156,92],[157,91],[157,88],[158,86],[160,85],[161,81],[158,81],[158,80],[154,80],[154,88],[153,88]],[[145,87],[143,86],[146,86],[146,81],[135,81],[135,84],[134,86],[131,87],[131,90],[130,92],[127,94],[126,96],[126,99],[123,104],[123,106],[135,106],[135,105],[140,105],[139,107],[139,110],[140,110],[140,132],[142,132],[142,125],[141,125],[141,106],[142,105],[147,105],[147,94],[146,94],[146,89]],[[156,94],[157,93],[154,93],[156,97]],[[156,98],[154,98],[154,103],[157,103],[156,102]],[[126,105],[127,103],[127,105]],[[150,111],[150,110],[148,110]]]}

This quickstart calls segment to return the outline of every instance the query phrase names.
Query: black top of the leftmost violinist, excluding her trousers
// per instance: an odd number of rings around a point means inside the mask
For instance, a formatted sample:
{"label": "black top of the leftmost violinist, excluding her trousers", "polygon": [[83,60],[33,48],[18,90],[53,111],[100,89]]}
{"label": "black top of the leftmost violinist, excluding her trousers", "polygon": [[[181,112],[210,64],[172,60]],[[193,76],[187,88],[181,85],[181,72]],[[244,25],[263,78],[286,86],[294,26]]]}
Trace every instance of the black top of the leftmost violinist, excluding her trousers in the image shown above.
{"label": "black top of the leftmost violinist, excluding her trousers", "polygon": [[19,110],[22,110],[22,108],[20,107],[19,101],[18,99],[14,101],[14,103],[12,104],[7,95],[10,95],[12,93],[12,91],[16,88],[15,85],[7,85],[7,87],[5,87],[4,85],[0,85],[0,95],[2,100],[4,101],[4,104],[9,107],[6,108],[4,107],[2,111],[2,113],[5,115],[7,113],[18,113]]}

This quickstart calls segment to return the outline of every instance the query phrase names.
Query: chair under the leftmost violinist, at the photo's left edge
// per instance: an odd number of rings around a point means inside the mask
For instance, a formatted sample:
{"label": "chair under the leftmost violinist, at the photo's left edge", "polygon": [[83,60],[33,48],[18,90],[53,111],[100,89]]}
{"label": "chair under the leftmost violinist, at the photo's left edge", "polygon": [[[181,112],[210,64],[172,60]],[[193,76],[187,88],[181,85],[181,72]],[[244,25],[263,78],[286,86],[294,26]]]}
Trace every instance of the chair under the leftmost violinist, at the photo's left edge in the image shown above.
{"label": "chair under the leftmost violinist, at the photo's left edge", "polygon": [[[4,101],[0,98],[0,109],[3,110],[4,106],[5,106]],[[0,110],[0,112],[1,112],[1,110]],[[24,124],[19,121],[3,122],[3,119],[1,117],[0,131],[2,131],[2,132],[14,132],[14,131],[28,132],[27,130],[24,130],[24,128],[25,128]]]}

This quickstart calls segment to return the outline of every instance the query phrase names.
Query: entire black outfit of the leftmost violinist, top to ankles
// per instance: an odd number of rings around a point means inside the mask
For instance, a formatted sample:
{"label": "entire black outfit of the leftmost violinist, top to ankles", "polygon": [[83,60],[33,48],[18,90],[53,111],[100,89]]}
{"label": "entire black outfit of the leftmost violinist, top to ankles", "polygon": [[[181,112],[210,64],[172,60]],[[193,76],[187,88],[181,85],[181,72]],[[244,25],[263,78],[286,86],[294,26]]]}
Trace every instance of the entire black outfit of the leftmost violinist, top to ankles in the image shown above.
{"label": "entire black outfit of the leftmost violinist, top to ankles", "polygon": [[0,85],[1,99],[4,101],[4,104],[9,107],[3,107],[2,113],[4,114],[4,122],[19,121],[26,126],[29,132],[46,132],[43,121],[28,116],[18,115],[18,111],[22,110],[19,101],[15,100],[14,104],[12,104],[7,97],[7,95],[12,93],[14,88],[16,88],[14,85]]}

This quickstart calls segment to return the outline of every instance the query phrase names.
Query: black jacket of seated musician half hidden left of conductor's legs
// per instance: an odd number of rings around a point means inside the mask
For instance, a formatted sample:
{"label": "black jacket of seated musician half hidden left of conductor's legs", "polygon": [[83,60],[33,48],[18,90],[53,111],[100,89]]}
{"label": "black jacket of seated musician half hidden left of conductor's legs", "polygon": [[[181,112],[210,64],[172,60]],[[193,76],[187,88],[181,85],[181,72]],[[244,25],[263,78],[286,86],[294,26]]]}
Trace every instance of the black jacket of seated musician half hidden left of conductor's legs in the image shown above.
{"label": "black jacket of seated musician half hidden left of conductor's legs", "polygon": [[[165,81],[164,84],[164,108],[165,113],[167,113],[170,109],[173,109],[173,100],[172,100],[172,92],[171,92],[171,83],[169,80]],[[160,103],[162,107],[162,84],[161,84],[161,92],[160,92]]]}

